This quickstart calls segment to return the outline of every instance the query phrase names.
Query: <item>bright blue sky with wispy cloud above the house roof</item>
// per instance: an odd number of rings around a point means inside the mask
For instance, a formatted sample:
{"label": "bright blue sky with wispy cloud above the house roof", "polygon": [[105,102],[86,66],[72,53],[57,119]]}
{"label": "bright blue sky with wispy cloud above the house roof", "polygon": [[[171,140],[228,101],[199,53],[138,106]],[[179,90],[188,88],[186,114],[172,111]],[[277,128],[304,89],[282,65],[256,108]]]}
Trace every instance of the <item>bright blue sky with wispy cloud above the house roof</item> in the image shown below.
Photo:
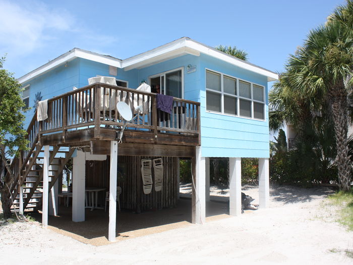
{"label": "bright blue sky with wispy cloud above the house roof", "polygon": [[15,77],[79,47],[126,59],[183,36],[236,45],[249,61],[282,71],[309,31],[344,0],[6,1],[0,56]]}

